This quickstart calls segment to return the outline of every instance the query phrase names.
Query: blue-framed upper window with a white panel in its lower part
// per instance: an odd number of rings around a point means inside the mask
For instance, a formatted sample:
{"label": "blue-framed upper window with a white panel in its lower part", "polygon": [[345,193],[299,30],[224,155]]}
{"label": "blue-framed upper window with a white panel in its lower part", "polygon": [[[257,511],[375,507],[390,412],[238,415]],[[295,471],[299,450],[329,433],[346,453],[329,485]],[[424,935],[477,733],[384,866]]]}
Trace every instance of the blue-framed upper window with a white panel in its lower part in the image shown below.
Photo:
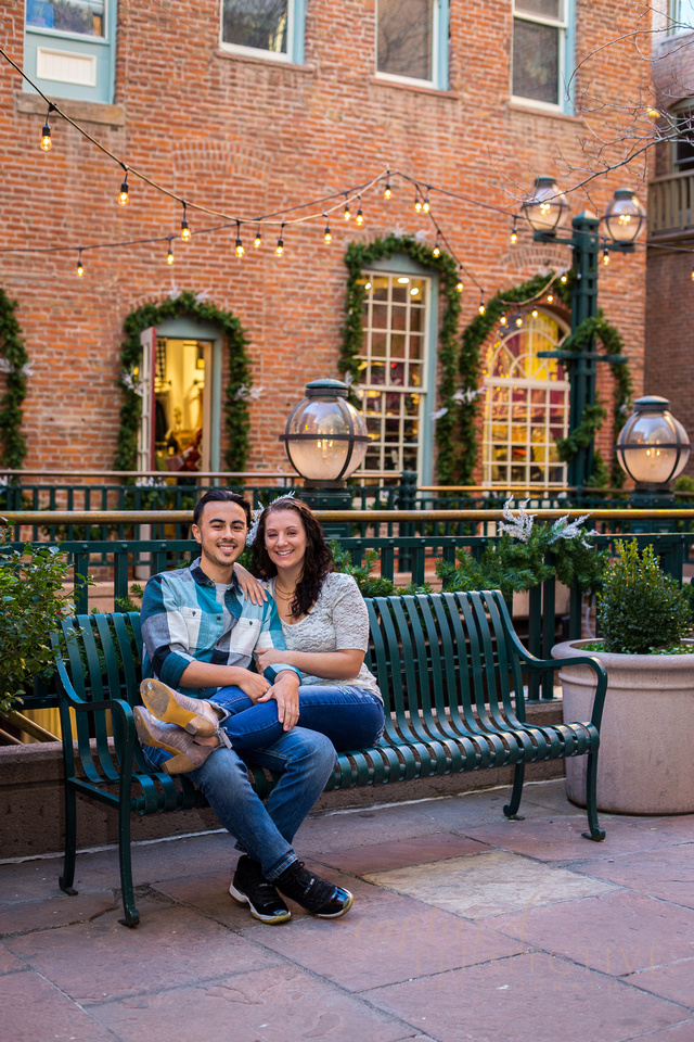
{"label": "blue-framed upper window with a white panel in its lower part", "polygon": [[51,97],[112,104],[116,0],[26,0],[25,11],[27,76]]}

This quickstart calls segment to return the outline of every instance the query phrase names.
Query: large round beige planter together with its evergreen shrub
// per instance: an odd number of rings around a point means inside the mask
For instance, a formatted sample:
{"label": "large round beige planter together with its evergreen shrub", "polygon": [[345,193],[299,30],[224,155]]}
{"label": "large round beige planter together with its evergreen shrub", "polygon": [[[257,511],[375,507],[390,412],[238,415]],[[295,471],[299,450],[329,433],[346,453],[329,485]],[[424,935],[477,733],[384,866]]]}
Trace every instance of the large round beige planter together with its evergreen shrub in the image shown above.
{"label": "large round beige planter together with its evergreen shrub", "polygon": [[[600,640],[556,645],[607,670],[597,758],[597,806],[625,814],[694,811],[694,641],[686,589],[659,567],[653,547],[617,544],[597,595]],[[594,684],[584,666],[562,666],[565,720],[588,720]],[[582,758],[581,758],[582,759]],[[566,761],[566,791],[581,804],[584,765]]]}

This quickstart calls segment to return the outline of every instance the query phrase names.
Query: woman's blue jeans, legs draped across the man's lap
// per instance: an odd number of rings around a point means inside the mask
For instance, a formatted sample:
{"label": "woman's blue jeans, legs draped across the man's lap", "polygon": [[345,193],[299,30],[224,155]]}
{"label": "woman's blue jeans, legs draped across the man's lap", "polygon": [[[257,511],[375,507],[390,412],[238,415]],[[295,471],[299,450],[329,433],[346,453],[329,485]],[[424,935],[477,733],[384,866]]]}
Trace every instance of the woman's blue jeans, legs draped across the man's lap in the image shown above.
{"label": "woman's blue jeans, legs draped across the man's lap", "polygon": [[[254,703],[240,687],[222,687],[214,702],[230,714],[220,726],[240,752],[265,749],[284,733],[273,700]],[[383,703],[370,691],[348,684],[299,687],[298,726],[325,735],[338,752],[373,746],[383,725]]]}

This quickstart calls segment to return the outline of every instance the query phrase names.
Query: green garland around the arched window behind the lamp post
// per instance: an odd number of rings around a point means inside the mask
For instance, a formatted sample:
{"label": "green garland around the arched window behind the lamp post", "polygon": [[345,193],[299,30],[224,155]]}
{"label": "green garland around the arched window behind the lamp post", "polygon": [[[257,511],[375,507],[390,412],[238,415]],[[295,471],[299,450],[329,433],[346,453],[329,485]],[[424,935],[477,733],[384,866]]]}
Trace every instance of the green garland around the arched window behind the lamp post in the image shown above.
{"label": "green garland around the arched window behind the lamp post", "polygon": [[[551,279],[548,275],[538,275],[522,285],[514,287],[498,293],[487,304],[484,315],[478,315],[463,333],[459,371],[463,389],[463,401],[458,410],[458,432],[460,449],[454,470],[454,482],[461,485],[473,483],[474,468],[477,462],[477,428],[476,418],[479,414],[478,390],[481,381],[481,347],[492,332],[499,318],[509,306],[531,301],[545,290]],[[556,281],[553,292],[561,297],[565,306],[570,304],[573,274],[568,274],[566,282]],[[602,312],[596,318],[587,318],[562,344],[562,351],[581,351],[591,340],[600,340],[611,355],[624,354],[624,341],[614,326],[605,319]],[[632,383],[629,364],[625,358],[621,365],[614,365],[615,391],[613,399],[614,419],[613,430],[615,441],[625,425],[629,412]],[[557,442],[560,458],[567,462],[574,458],[579,447],[589,445],[603,424],[606,412],[600,402],[587,406],[583,410],[580,424],[570,435]],[[608,473],[600,453],[594,454],[593,472],[590,483],[595,487],[604,486],[608,482],[613,486],[621,486],[624,474],[616,459],[613,459],[612,470]]]}

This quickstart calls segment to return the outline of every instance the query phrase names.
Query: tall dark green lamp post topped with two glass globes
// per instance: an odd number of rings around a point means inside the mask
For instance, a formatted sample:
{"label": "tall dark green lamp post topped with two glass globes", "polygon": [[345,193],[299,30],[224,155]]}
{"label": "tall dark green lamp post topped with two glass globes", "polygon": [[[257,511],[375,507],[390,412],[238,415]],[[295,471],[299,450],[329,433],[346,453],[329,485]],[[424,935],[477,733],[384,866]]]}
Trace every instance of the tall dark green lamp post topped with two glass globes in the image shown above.
{"label": "tall dark green lamp post topped with two glass globes", "polygon": [[[584,211],[571,221],[573,234],[565,229],[569,206],[552,177],[538,177],[532,195],[522,204],[524,215],[535,230],[536,242],[558,242],[570,246],[575,272],[571,290],[571,332],[587,318],[597,316],[597,256],[601,240],[605,247],[617,253],[632,253],[634,240],[645,224],[645,211],[633,192],[619,188],[615,192],[603,220],[607,236],[600,236],[600,220]],[[581,351],[542,351],[541,358],[557,358],[566,367],[571,387],[569,401],[569,434],[580,427],[587,406],[595,404],[597,363],[624,363],[621,355],[603,355],[594,342]],[[593,445],[581,446],[568,465],[568,484],[582,488],[588,484],[593,463]]]}

